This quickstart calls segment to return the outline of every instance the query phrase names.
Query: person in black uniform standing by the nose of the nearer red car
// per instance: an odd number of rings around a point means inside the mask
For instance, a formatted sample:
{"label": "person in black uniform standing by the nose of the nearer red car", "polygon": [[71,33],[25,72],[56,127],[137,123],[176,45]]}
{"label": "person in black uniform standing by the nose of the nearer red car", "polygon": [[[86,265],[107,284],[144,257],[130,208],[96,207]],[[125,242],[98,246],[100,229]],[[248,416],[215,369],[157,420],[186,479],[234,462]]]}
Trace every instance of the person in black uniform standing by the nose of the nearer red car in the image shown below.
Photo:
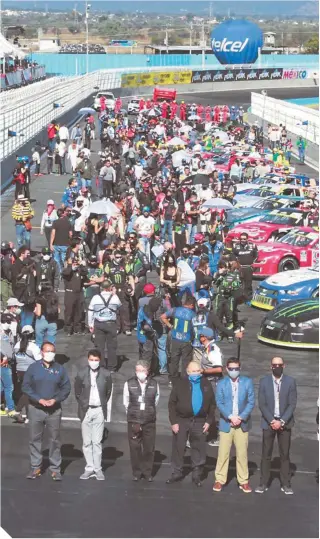
{"label": "person in black uniform standing by the nose of the nearer red car", "polygon": [[252,264],[258,256],[257,246],[248,241],[248,234],[240,234],[240,242],[236,243],[232,249],[241,266],[241,278],[244,286],[244,295],[247,301],[252,298]]}

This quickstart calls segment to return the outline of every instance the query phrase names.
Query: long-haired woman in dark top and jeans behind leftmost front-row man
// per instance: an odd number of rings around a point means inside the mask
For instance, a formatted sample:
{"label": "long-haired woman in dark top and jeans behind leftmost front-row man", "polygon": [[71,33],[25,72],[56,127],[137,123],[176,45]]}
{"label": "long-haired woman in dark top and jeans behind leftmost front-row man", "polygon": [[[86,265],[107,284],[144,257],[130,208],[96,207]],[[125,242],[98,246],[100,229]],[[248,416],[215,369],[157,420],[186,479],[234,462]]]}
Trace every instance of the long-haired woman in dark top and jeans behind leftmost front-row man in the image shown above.
{"label": "long-haired woman in dark top and jeans behind leftmost front-row man", "polygon": [[44,283],[41,288],[41,297],[36,299],[36,344],[41,348],[47,341],[55,344],[58,319],[59,299],[50,284]]}

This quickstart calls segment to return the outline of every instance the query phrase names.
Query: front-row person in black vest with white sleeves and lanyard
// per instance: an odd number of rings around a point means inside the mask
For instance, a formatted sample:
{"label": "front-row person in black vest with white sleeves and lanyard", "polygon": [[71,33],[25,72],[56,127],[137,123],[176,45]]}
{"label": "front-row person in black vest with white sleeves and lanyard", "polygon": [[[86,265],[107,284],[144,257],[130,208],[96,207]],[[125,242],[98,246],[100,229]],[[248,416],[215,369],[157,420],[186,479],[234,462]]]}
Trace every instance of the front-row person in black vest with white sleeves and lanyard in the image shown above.
{"label": "front-row person in black vest with white sleeves and lanyard", "polygon": [[135,375],[123,388],[133,481],[139,481],[142,476],[149,482],[153,481],[151,474],[159,397],[159,384],[150,375],[149,362],[139,360]]}

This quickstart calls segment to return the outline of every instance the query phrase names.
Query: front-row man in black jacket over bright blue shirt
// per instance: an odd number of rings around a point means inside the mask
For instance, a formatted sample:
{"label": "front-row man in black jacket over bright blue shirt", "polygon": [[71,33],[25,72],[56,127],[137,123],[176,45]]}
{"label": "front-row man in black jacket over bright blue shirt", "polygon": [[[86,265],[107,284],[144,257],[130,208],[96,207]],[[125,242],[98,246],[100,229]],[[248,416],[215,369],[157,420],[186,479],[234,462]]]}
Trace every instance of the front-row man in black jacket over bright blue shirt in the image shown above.
{"label": "front-row man in black jacket over bright blue shirt", "polygon": [[201,374],[198,362],[187,366],[187,378],[179,378],[169,398],[169,420],[173,432],[172,467],[168,484],[183,478],[183,456],[189,436],[192,481],[201,487],[201,474],[206,460],[206,434],[215,417],[212,386]]}

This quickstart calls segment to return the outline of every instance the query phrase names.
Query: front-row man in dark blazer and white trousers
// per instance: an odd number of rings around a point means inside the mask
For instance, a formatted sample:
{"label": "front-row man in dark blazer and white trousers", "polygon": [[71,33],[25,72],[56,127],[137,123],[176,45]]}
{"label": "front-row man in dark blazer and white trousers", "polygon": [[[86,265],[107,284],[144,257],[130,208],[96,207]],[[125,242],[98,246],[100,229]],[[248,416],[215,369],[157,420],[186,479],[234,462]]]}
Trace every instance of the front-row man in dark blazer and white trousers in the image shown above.
{"label": "front-row man in dark blazer and white trousers", "polygon": [[78,372],[74,391],[81,421],[82,451],[86,467],[80,479],[105,479],[101,468],[104,421],[108,416],[108,401],[112,392],[110,372],[101,365],[99,350],[89,350],[88,365]]}

